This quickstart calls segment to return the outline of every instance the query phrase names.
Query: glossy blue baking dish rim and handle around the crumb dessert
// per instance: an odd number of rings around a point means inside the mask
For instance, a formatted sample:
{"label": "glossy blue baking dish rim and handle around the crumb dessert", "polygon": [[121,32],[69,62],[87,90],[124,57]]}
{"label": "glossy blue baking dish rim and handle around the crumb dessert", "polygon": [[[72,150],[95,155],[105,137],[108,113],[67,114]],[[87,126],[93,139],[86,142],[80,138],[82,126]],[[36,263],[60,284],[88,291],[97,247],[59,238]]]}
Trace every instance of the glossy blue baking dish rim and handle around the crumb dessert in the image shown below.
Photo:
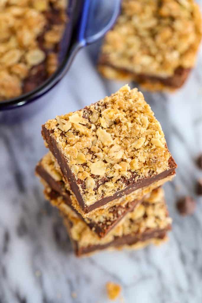
{"label": "glossy blue baking dish rim and handle around the crumb dessert", "polygon": [[69,22],[60,43],[57,71],[33,91],[0,102],[0,110],[20,108],[47,94],[68,72],[77,52],[103,37],[114,25],[120,5],[121,0],[69,0]]}

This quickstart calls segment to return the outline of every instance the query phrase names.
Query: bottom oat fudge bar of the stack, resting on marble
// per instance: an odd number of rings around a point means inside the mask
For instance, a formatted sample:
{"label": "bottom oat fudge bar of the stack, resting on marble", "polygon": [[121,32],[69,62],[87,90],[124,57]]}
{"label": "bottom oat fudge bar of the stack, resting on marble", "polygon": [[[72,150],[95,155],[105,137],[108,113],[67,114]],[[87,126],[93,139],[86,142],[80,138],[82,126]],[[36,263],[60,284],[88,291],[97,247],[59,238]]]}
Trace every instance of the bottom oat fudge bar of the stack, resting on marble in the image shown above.
{"label": "bottom oat fudge bar of the stack, resting on marble", "polygon": [[151,197],[145,198],[136,210],[129,212],[104,238],[99,238],[91,231],[71,208],[65,217],[65,225],[77,256],[106,248],[141,248],[150,243],[159,244],[167,238],[171,222],[162,188],[152,192]]}

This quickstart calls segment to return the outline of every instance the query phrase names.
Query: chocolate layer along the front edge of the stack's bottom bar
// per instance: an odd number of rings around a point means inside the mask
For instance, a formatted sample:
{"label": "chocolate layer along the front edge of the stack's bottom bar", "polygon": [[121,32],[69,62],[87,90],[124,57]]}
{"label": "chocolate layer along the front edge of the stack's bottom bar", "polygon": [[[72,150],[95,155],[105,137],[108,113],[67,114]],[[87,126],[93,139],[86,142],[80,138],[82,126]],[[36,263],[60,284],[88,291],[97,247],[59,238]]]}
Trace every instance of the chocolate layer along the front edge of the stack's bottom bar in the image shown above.
{"label": "chocolate layer along the front edge of the stack's bottom bar", "polygon": [[[71,222],[69,222],[71,226]],[[135,234],[135,235],[125,235],[123,237],[116,237],[113,241],[106,243],[106,244],[101,244],[101,245],[89,245],[87,247],[78,247],[77,241],[72,240],[73,246],[75,249],[75,254],[80,257],[82,255],[91,253],[96,250],[103,250],[105,248],[109,247],[121,247],[123,245],[133,245],[136,244],[137,242],[144,242],[149,239],[155,238],[155,239],[164,239],[166,236],[166,233],[168,230],[171,229],[171,225],[168,225],[167,228],[164,229],[154,229],[154,230],[149,230],[145,231],[142,234]]]}

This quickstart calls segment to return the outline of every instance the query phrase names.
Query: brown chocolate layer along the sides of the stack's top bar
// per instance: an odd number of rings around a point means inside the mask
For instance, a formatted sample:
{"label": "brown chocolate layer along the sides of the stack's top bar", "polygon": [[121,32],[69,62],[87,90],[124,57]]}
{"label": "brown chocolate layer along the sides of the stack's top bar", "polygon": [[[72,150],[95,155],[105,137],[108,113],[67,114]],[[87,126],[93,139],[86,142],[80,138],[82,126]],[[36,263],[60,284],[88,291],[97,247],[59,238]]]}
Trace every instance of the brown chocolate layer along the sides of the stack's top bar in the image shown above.
{"label": "brown chocolate layer along the sides of the stack's top bar", "polygon": [[79,205],[81,205],[81,208],[83,209],[83,211],[85,213],[88,213],[88,212],[92,211],[93,209],[98,208],[102,205],[105,205],[106,203],[108,203],[112,200],[115,200],[117,198],[121,198],[121,196],[123,196],[123,195],[128,195],[132,191],[135,191],[138,188],[148,186],[148,185],[152,184],[155,181],[166,178],[169,175],[174,175],[175,168],[177,167],[174,159],[172,157],[170,157],[170,159],[169,159],[169,167],[170,168],[166,171],[163,171],[162,173],[160,173],[158,175],[148,177],[148,178],[144,178],[144,179],[141,179],[141,180],[135,182],[134,178],[136,177],[136,173],[132,172],[132,176],[131,176],[130,179],[125,179],[125,178],[122,179],[122,181],[127,185],[126,188],[124,188],[121,191],[116,192],[112,196],[104,197],[104,198],[94,202],[92,205],[86,205],[84,200],[83,200],[83,197],[81,195],[81,192],[79,190],[79,187],[78,187],[77,181],[75,179],[75,176],[71,172],[71,169],[69,168],[64,155],[58,149],[55,138],[52,136],[52,132],[49,129],[45,128],[45,125],[42,125],[41,134],[42,134],[43,138],[45,139],[45,141],[47,142],[48,148],[50,149],[52,154],[57,159],[58,164],[60,165],[60,168],[61,168],[61,171],[62,171],[64,177],[70,183],[71,190],[74,192],[74,194],[75,194],[75,196],[78,200]]}

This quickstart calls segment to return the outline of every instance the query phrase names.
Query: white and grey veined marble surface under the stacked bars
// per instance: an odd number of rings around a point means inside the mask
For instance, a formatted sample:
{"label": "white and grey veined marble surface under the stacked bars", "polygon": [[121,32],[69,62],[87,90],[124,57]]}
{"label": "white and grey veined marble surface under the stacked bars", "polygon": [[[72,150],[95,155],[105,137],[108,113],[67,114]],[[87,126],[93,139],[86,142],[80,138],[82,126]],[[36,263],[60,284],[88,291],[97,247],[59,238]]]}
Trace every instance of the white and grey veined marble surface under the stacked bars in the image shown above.
{"label": "white and grey veined marble surface under the stacked bars", "polygon": [[[179,167],[174,182],[164,187],[173,218],[168,243],[77,259],[58,211],[43,197],[34,175],[37,161],[46,152],[41,124],[124,84],[98,75],[92,60],[95,47],[82,50],[68,75],[37,105],[0,115],[0,302],[108,303],[105,283],[114,281],[121,284],[126,303],[200,303],[202,199],[195,196],[194,187],[202,177],[195,165],[202,152],[202,52],[179,92],[145,92]],[[35,106],[38,112],[25,119],[26,111]],[[182,218],[175,201],[185,194],[197,199],[197,209]],[[72,298],[74,292],[76,298]]]}

